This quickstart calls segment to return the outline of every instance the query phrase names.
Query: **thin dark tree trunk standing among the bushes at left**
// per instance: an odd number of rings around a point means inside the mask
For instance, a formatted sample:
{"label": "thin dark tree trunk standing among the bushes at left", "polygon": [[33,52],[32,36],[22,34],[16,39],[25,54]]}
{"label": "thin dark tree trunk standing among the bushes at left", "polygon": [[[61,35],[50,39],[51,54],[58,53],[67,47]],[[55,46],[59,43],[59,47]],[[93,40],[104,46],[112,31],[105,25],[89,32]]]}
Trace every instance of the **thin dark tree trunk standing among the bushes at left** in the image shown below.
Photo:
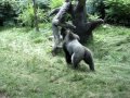
{"label": "thin dark tree trunk standing among the bushes at left", "polygon": [[35,25],[35,27],[36,27],[36,30],[39,32],[36,0],[32,0],[32,3],[34,3],[34,14],[35,14],[34,25]]}

